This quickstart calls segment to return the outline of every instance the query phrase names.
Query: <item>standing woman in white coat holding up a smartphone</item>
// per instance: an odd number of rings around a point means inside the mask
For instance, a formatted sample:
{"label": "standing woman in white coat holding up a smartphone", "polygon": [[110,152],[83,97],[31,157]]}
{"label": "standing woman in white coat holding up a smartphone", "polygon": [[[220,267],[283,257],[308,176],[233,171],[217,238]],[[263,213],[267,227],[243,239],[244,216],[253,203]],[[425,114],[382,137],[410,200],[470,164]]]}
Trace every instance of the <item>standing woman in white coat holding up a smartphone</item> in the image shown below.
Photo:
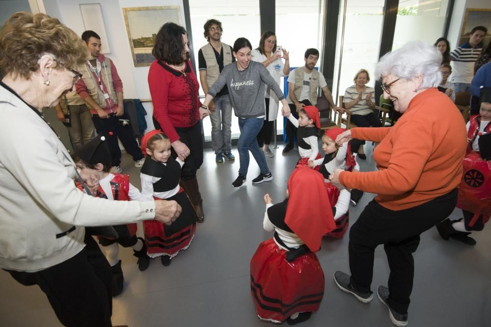
{"label": "standing woman in white coat holding up a smartphone", "polygon": [[[281,58],[285,59],[285,62]],[[278,85],[281,76],[288,76],[290,74],[290,62],[288,59],[288,51],[281,49],[281,46],[276,46],[276,35],[272,31],[265,32],[259,41],[259,48],[252,50],[252,60],[260,62],[266,67]],[[262,148],[264,154],[273,157],[270,143],[274,121],[278,115],[279,100],[267,85],[264,91],[264,98],[266,113],[263,128],[261,128],[261,131],[257,135],[257,143]],[[276,134],[276,131],[274,134]]]}

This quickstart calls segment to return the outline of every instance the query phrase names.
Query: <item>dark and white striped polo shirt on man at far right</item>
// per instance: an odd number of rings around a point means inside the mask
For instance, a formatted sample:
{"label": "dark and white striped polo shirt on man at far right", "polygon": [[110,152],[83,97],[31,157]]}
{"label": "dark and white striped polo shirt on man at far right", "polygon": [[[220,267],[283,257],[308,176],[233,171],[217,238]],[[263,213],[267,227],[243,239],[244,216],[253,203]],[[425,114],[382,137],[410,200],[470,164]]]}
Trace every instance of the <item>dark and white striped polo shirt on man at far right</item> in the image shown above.
{"label": "dark and white striped polo shirt on man at far right", "polygon": [[482,50],[481,46],[478,45],[472,48],[467,42],[450,52],[453,67],[452,83],[470,84],[472,82],[472,77],[474,77],[474,63]]}

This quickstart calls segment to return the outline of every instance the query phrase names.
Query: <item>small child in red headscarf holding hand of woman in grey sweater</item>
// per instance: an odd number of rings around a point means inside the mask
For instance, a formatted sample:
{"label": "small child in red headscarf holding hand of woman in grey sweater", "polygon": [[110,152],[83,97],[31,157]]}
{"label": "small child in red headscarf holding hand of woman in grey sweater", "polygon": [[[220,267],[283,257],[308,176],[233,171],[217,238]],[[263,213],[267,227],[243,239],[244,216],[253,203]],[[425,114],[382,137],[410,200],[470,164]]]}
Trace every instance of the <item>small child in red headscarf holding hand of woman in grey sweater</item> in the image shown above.
{"label": "small child in red headscarf holding hand of woman in grey sweater", "polygon": [[[297,165],[308,166],[309,160],[320,159],[317,136],[321,128],[319,109],[313,105],[306,105],[299,110],[299,119],[292,114],[288,116],[292,124],[297,127],[297,142],[299,144],[300,160]],[[319,167],[313,167],[319,170]]]}

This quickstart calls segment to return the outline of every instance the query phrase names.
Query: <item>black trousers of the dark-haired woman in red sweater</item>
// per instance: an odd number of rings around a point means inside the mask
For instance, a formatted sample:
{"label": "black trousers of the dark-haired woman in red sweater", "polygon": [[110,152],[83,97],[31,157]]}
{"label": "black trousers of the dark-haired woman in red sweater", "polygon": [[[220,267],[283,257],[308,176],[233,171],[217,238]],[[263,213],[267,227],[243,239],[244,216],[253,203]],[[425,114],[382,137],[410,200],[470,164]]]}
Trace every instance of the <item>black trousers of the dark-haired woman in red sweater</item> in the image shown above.
{"label": "black trousers of the dark-haired woman in red sweater", "polygon": [[[162,129],[159,122],[153,117],[155,129]],[[190,150],[190,155],[184,160],[181,169],[181,179],[190,180],[196,176],[196,172],[203,164],[203,123],[198,121],[191,127],[174,127],[179,135],[180,141],[186,144]],[[170,148],[171,155],[177,158],[174,148]]]}

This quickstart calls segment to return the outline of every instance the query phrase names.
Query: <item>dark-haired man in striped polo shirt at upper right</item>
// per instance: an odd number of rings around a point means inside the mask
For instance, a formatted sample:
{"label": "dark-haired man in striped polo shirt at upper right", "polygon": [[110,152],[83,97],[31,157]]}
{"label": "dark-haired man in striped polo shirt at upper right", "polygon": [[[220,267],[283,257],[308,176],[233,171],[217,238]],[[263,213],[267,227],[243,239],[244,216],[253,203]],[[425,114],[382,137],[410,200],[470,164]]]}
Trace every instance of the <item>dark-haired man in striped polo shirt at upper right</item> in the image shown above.
{"label": "dark-haired man in striped polo shirt at upper right", "polygon": [[470,83],[474,77],[474,63],[483,50],[481,41],[487,32],[488,29],[485,26],[472,28],[469,41],[450,52],[455,92],[470,92]]}

